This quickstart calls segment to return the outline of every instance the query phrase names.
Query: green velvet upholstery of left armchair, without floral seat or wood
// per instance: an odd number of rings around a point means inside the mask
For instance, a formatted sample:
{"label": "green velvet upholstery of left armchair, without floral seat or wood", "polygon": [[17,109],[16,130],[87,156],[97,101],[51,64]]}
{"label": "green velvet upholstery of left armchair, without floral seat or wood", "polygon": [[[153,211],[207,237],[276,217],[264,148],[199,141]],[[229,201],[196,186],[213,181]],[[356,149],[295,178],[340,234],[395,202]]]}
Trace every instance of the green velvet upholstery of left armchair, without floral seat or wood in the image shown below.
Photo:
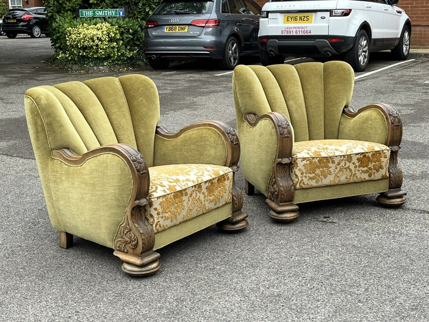
{"label": "green velvet upholstery of left armchair, without floral seat or wood", "polygon": [[[159,97],[146,76],[38,86],[30,88],[24,100],[52,225],[104,246],[114,247],[118,226],[128,204],[134,202],[129,166],[119,155],[107,152],[72,166],[54,158],[51,151],[68,148],[83,155],[100,146],[125,143],[142,154],[148,167],[226,163],[225,140],[214,128],[193,128],[176,139],[155,136]],[[155,238],[156,248],[230,217],[231,205],[166,229],[159,241]]]}

